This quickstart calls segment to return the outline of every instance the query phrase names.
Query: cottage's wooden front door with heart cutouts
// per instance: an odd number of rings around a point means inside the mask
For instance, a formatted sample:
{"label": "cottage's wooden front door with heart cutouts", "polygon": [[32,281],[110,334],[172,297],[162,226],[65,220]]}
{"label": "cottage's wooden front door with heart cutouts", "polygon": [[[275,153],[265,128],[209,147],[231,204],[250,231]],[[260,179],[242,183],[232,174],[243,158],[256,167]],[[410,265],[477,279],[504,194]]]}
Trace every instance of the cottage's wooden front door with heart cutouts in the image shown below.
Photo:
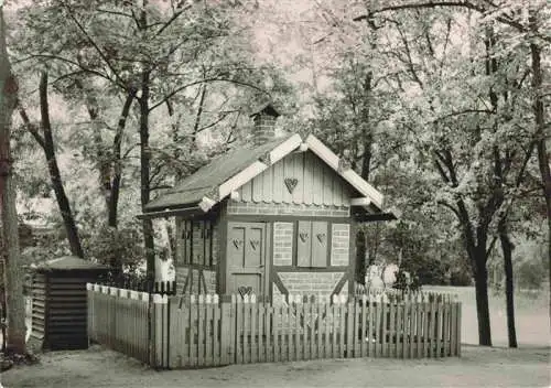
{"label": "cottage's wooden front door with heart cutouts", "polygon": [[228,293],[268,294],[266,224],[228,223]]}

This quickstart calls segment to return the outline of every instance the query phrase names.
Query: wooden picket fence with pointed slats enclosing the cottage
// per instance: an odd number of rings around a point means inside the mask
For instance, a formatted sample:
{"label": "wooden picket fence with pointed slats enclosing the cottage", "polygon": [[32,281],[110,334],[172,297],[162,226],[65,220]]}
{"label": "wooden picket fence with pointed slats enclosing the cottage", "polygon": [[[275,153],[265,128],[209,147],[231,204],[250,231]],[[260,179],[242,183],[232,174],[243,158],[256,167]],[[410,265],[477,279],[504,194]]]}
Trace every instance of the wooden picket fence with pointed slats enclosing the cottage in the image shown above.
{"label": "wooden picket fence with pointed slats enclosing the cottage", "polygon": [[461,303],[450,295],[290,295],[273,305],[256,295],[153,294],[148,314],[149,298],[88,284],[90,340],[156,368],[461,355]]}

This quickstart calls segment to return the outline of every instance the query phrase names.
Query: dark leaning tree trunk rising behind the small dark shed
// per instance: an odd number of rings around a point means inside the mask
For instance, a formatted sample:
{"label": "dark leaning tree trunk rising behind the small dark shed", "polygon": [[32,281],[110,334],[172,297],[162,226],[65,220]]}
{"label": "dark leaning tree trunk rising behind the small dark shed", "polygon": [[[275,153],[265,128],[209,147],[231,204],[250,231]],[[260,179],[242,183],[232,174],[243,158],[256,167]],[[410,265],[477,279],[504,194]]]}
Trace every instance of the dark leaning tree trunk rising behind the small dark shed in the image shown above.
{"label": "dark leaning tree trunk rising behind the small dark shed", "polygon": [[47,101],[47,73],[42,72],[40,79],[40,111],[42,119],[42,131],[44,136],[44,154],[46,155],[47,169],[50,171],[50,179],[55,192],[57,205],[63,217],[65,230],[67,231],[67,240],[69,242],[71,252],[74,256],[84,258],[84,251],[80,246],[80,238],[75,224],[75,218],[71,209],[71,204],[65,194],[63,186],[60,168],[57,166],[57,159],[55,157],[54,139],[52,136],[52,125],[50,122],[50,108]]}

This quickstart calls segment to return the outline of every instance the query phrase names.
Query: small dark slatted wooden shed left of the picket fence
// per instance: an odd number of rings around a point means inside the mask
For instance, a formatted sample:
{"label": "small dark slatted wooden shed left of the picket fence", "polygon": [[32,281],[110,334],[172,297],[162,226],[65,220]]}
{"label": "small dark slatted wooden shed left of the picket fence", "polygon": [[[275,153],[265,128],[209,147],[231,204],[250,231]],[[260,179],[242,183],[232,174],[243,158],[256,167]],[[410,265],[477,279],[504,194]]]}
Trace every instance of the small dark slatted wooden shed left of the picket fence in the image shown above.
{"label": "small dark slatted wooden shed left of the picket fence", "polygon": [[31,341],[43,349],[88,347],[86,283],[108,268],[66,256],[37,267],[32,282]]}

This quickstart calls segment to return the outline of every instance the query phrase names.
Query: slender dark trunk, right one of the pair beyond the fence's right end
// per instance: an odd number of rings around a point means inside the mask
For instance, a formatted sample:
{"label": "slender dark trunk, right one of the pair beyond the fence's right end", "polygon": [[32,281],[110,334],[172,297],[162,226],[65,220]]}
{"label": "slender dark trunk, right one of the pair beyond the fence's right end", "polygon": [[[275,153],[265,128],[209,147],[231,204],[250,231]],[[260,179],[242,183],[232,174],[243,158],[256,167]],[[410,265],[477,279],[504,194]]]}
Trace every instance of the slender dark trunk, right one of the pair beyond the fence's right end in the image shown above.
{"label": "slender dark trunk, right one of the pair beyond the fence's right end", "polygon": [[512,278],[512,244],[507,230],[507,220],[501,219],[498,225],[499,240],[501,241],[501,251],[504,252],[505,269],[505,297],[507,304],[507,333],[509,337],[509,347],[518,347],[517,330],[515,327],[515,289]]}

